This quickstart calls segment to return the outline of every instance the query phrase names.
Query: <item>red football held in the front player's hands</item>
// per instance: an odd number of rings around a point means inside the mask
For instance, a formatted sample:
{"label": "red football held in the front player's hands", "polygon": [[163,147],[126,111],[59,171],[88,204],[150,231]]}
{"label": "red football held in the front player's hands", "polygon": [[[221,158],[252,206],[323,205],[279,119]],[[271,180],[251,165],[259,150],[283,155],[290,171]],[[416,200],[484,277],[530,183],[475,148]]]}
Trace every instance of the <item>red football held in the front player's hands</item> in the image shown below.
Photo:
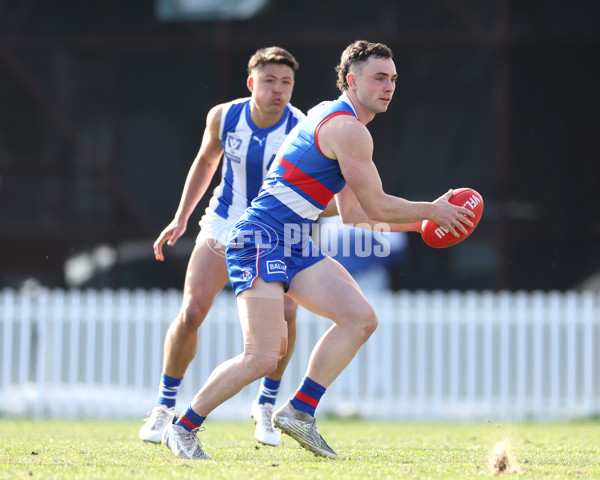
{"label": "red football held in the front player's hands", "polygon": [[473,213],[475,213],[475,218],[469,217],[469,220],[471,220],[474,225],[473,227],[467,227],[465,225],[468,233],[463,235],[462,233],[458,232],[460,236],[456,238],[444,227],[440,227],[430,220],[423,220],[421,225],[421,236],[423,237],[423,241],[430,247],[446,248],[462,242],[465,238],[471,235],[471,233],[473,233],[473,230],[475,230],[475,227],[477,227],[479,220],[481,220],[481,215],[483,215],[483,198],[481,198],[481,195],[479,195],[479,193],[472,188],[454,189],[454,194],[450,197],[449,202],[454,205],[460,205],[461,207],[472,210]]}

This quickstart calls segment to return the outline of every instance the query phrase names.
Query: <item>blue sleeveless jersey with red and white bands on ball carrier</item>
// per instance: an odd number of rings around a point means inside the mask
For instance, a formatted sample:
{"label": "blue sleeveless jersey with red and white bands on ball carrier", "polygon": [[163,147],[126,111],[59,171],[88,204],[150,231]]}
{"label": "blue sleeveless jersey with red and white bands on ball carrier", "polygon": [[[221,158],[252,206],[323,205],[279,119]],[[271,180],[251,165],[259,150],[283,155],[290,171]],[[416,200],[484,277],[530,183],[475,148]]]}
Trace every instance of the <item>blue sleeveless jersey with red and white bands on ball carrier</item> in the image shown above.
{"label": "blue sleeveless jersey with red and white bands on ball carrier", "polygon": [[357,117],[346,95],[312,108],[282,145],[243,219],[268,223],[279,233],[284,225],[311,225],[346,181],[337,160],[319,149],[320,126],[336,115]]}

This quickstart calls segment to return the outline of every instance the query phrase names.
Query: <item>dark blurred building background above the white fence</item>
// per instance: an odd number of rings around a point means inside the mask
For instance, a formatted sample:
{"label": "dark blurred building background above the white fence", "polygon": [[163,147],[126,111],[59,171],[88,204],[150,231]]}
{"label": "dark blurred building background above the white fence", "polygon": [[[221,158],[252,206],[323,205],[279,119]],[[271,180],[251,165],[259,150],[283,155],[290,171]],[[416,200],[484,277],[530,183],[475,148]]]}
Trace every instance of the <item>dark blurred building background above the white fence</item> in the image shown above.
{"label": "dark blurred building background above the white fence", "polygon": [[0,2],[0,288],[72,286],[66,265],[82,258],[80,286],[181,288],[208,198],[166,262],[151,245],[209,108],[247,96],[248,57],[273,44],[301,64],[294,105],[337,97],[334,66],[361,38],[389,45],[400,76],[369,124],[386,191],[433,200],[470,186],[485,200],[456,247],[411,235],[395,288],[566,290],[600,271],[600,3],[271,0],[251,19],[216,21],[156,12],[149,0]]}

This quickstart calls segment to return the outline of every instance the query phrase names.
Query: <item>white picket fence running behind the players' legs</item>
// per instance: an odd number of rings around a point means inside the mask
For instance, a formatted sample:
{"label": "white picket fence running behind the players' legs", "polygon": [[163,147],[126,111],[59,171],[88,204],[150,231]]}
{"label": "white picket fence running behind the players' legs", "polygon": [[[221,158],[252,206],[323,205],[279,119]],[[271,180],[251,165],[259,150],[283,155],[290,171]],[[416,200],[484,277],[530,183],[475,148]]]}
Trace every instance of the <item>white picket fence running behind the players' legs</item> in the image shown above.
{"label": "white picket fence running behind the players' legs", "polygon": [[[600,294],[368,294],[377,331],[328,389],[320,415],[372,419],[580,418],[600,413]],[[154,404],[178,291],[0,291],[0,415],[141,418]],[[279,400],[329,321],[304,309]],[[182,408],[242,349],[223,292],[200,329]],[[257,385],[213,412],[247,418]]]}

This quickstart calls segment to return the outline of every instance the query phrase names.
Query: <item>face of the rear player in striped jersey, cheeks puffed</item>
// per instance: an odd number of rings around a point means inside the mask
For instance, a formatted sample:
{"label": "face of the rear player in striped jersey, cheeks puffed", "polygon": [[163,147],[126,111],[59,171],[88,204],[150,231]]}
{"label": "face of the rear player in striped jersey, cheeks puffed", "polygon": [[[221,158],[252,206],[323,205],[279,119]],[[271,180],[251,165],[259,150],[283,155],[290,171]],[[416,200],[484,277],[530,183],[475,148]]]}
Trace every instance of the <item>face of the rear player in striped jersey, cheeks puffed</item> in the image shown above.
{"label": "face of the rear player in striped jersey, cheeks puffed", "polygon": [[281,113],[292,98],[294,70],[269,63],[248,77],[248,88],[256,106],[265,113]]}

